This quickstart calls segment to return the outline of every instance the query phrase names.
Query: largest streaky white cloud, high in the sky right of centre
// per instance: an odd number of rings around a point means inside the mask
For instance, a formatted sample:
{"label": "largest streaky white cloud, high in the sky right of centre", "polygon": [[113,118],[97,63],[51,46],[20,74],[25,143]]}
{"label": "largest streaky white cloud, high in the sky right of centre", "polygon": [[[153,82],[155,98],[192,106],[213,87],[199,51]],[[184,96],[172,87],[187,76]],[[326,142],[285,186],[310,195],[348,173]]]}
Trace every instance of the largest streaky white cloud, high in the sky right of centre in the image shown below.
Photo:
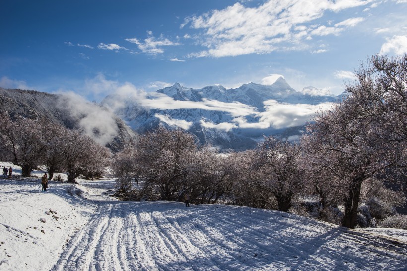
{"label": "largest streaky white cloud, high in the sky right of centre", "polygon": [[363,6],[369,0],[270,0],[256,7],[237,2],[222,10],[189,17],[181,25],[202,29],[195,38],[207,50],[189,57],[224,57],[264,54],[276,50],[304,50],[312,36],[339,35],[363,18],[349,18],[326,26],[311,24],[326,12]]}

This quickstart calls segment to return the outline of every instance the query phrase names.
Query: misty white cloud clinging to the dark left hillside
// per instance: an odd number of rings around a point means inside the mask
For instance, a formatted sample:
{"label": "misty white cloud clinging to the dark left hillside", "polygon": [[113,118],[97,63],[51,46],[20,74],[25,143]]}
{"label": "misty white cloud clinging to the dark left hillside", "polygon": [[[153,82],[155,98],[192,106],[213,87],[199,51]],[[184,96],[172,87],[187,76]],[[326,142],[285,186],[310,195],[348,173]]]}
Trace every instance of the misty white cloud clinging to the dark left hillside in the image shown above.
{"label": "misty white cloud clinging to the dark left hillside", "polygon": [[97,143],[105,145],[118,133],[114,114],[106,108],[89,103],[82,96],[73,93],[61,93],[61,107],[66,108],[71,117],[79,119],[83,132]]}

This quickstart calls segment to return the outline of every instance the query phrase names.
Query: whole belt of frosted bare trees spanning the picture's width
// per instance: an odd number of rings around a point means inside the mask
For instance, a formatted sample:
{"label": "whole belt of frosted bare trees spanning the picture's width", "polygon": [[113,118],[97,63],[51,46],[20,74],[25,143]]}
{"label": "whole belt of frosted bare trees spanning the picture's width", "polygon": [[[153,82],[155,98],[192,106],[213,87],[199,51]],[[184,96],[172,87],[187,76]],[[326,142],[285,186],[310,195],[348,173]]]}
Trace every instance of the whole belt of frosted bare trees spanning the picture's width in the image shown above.
{"label": "whole belt of frosted bare trees spanning the picture's width", "polygon": [[[110,165],[117,196],[221,202],[313,216],[354,228],[394,215],[406,199],[407,54],[373,56],[346,86],[348,96],[317,113],[297,143],[265,137],[254,150],[218,153],[184,130],[159,128],[114,155],[80,131],[44,120],[0,118],[2,160],[92,175]],[[112,156],[112,157],[111,157]],[[143,185],[137,186],[136,183]]]}

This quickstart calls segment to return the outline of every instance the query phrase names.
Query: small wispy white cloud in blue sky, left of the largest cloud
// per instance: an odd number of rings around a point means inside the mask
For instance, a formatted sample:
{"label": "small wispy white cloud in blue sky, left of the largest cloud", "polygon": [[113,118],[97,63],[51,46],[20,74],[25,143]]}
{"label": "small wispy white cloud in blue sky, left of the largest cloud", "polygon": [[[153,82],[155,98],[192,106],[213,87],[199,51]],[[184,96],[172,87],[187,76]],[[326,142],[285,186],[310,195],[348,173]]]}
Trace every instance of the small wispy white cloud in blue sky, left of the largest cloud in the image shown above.
{"label": "small wispy white cloud in blue sky, left of the largest cloud", "polygon": [[162,54],[164,53],[163,46],[175,46],[180,45],[177,42],[172,42],[161,34],[160,37],[156,38],[153,36],[151,31],[147,31],[147,38],[144,41],[138,40],[136,37],[131,39],[126,39],[126,41],[134,43],[138,46],[143,53],[146,54]]}

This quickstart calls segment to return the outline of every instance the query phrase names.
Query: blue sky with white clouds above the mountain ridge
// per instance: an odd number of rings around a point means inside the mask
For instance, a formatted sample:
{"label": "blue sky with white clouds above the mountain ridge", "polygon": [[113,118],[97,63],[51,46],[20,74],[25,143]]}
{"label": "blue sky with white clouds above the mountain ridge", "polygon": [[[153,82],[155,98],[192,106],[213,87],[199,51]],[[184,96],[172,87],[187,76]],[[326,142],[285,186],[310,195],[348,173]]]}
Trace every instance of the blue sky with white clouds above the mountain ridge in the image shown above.
{"label": "blue sky with white clouds above the mountain ridge", "polygon": [[0,86],[100,101],[281,74],[339,94],[368,57],[406,52],[405,14],[407,0],[2,0]]}

